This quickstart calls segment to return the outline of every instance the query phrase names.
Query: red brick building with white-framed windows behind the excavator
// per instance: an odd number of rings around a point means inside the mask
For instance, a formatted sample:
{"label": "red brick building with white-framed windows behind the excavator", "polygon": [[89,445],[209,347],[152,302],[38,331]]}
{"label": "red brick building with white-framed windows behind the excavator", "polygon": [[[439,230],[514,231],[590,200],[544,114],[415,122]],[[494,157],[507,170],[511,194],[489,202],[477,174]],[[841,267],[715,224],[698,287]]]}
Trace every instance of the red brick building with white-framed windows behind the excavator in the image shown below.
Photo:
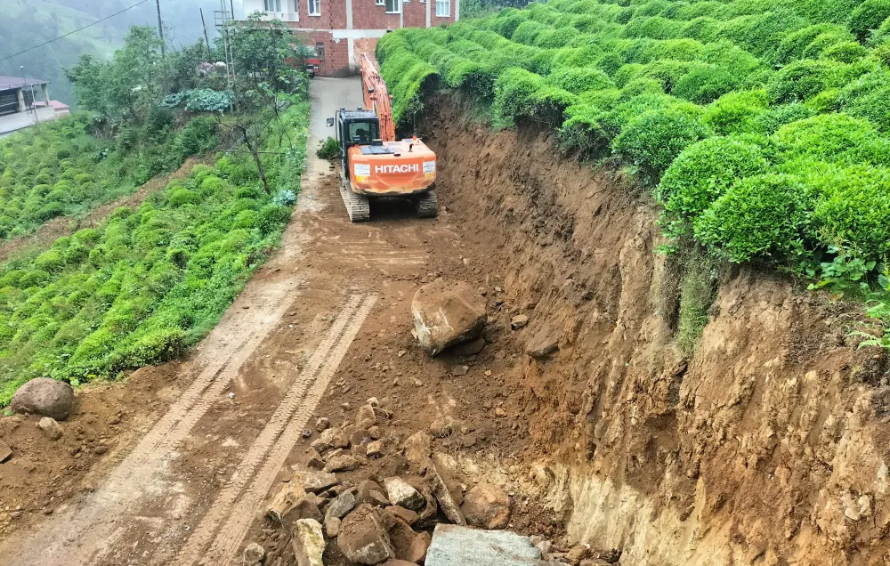
{"label": "red brick building with white-framed windows behind the excavator", "polygon": [[460,0],[244,0],[244,11],[265,12],[301,32],[321,61],[320,75],[358,69],[361,53],[397,28],[432,28],[460,18]]}

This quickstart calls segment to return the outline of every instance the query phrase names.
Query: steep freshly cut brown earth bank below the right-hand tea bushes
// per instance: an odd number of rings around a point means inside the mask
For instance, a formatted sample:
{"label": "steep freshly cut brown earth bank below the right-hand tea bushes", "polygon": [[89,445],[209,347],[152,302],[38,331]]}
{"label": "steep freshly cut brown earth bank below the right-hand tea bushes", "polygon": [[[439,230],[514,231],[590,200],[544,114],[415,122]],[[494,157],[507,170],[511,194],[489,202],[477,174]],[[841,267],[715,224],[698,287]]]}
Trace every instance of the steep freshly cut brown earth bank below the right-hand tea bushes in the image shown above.
{"label": "steep freshly cut brown earth bank below the right-hand tea bushes", "polygon": [[449,100],[422,132],[465,245],[533,308],[507,381],[570,535],[627,564],[886,563],[886,359],[847,337],[854,307],[726,270],[692,356],[651,198],[490,133]]}

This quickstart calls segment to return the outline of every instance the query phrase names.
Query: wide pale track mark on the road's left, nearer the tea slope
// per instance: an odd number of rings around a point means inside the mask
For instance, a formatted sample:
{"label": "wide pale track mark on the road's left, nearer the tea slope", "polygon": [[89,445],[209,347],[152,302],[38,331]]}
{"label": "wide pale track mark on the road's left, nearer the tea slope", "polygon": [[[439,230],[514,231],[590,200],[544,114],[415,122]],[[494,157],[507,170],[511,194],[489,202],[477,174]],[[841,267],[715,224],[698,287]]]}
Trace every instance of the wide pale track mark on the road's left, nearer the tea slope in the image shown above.
{"label": "wide pale track mark on the road's left, nearer the tea slope", "polygon": [[[84,504],[72,505],[64,513],[53,516],[18,549],[10,566],[88,564],[94,562],[93,556],[97,553],[102,554],[114,546],[113,526],[125,517],[131,505],[146,495],[151,481],[163,472],[164,462],[174,456],[174,449],[188,438],[201,416],[219,399],[287,311],[284,301],[270,304],[277,308],[274,311],[257,309],[239,321],[239,327],[254,330],[234,345],[230,356],[211,357],[179,400],[115,467],[101,488]],[[59,536],[61,532],[66,533],[64,538]]]}

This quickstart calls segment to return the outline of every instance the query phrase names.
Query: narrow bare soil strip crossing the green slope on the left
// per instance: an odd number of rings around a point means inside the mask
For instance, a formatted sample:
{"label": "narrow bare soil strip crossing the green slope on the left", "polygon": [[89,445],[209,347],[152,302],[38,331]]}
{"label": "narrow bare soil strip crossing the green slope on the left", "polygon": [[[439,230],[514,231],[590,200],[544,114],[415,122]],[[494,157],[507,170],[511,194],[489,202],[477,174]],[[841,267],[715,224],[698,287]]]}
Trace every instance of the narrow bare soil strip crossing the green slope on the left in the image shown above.
{"label": "narrow bare soil strip crossing the green slope on the left", "polygon": [[116,198],[103,205],[96,206],[84,215],[58,216],[49,222],[44,222],[40,228],[28,235],[6,240],[0,244],[0,262],[4,262],[12,257],[12,255],[19,254],[24,250],[45,247],[55,239],[59,239],[62,236],[70,236],[82,228],[95,228],[120,206],[130,206],[132,208],[140,206],[142,201],[148,198],[150,194],[163,189],[166,187],[167,183],[173,179],[180,179],[188,176],[191,172],[191,167],[198,163],[204,163],[207,159],[208,158],[188,158],[182,166],[173,173],[155,175],[132,195]]}

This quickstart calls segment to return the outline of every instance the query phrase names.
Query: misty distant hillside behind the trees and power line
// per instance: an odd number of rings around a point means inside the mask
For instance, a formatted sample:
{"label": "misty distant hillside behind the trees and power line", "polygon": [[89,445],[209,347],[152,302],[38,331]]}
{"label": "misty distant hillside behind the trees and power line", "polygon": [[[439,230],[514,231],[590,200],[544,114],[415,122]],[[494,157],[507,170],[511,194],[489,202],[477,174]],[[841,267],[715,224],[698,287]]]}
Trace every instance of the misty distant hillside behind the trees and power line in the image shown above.
{"label": "misty distant hillside behind the trees and power line", "polygon": [[[33,45],[81,28],[135,4],[138,0],[0,0],[0,59]],[[235,2],[239,11],[240,2]],[[214,36],[213,11],[218,0],[161,0],[166,40],[174,46],[191,44],[204,37],[198,10],[204,9],[207,33]],[[20,66],[28,77],[52,82],[53,99],[77,105],[65,78],[64,68],[83,53],[106,57],[121,44],[131,25],[157,25],[155,2],[150,0],[114,18],[28,53],[0,61],[0,75],[19,76]]]}

